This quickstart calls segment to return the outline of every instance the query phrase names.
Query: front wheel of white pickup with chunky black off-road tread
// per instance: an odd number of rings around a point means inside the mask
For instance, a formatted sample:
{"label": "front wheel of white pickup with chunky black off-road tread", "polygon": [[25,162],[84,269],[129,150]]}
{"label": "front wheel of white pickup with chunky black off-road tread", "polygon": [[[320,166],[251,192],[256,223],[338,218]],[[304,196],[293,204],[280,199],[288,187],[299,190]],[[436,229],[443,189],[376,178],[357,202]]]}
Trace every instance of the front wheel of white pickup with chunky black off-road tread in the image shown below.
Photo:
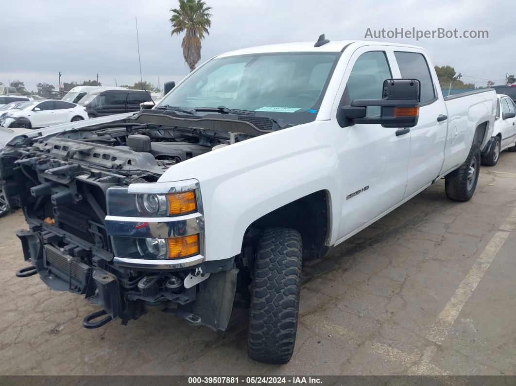
{"label": "front wheel of white pickup with chunky black off-road tread", "polygon": [[256,253],[248,330],[249,358],[287,363],[294,352],[301,288],[301,235],[267,228]]}

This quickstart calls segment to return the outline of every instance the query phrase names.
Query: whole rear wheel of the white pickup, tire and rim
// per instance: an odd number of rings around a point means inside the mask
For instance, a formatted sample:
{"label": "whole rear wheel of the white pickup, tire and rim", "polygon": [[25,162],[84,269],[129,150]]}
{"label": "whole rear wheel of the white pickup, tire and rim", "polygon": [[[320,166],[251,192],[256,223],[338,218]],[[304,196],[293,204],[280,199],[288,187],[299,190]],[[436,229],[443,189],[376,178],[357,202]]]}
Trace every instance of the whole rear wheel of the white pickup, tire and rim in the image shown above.
{"label": "whole rear wheel of the white pickup, tire and rim", "polygon": [[480,171],[480,150],[478,145],[471,146],[470,154],[459,169],[445,177],[445,191],[448,198],[467,201],[473,197]]}

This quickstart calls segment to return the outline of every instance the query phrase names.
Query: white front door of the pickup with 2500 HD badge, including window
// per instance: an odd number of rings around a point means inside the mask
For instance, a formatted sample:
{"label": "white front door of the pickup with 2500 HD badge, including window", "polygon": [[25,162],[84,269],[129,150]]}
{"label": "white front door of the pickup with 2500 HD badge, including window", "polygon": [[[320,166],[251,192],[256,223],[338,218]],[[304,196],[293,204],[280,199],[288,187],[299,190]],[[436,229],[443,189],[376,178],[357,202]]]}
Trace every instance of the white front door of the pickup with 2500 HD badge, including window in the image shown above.
{"label": "white front door of the pickup with 2500 HD badge, including window", "polygon": [[[382,97],[383,81],[391,73],[388,53],[358,49],[351,57],[352,69],[342,94],[341,106],[353,99]],[[391,53],[392,56],[392,53]],[[367,107],[368,117],[380,114],[380,107]],[[350,124],[338,127],[340,171],[342,174],[342,213],[340,237],[363,227],[401,202],[407,187],[410,133],[399,135],[397,128],[380,124]],[[398,133],[397,133],[398,131]]]}

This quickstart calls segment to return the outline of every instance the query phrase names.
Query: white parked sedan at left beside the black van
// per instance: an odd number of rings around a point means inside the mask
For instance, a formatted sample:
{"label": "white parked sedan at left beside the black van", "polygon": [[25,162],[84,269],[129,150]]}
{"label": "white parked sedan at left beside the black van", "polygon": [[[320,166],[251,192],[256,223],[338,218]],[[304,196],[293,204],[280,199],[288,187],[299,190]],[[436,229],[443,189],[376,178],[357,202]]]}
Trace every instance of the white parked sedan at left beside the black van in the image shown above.
{"label": "white parked sedan at left beside the black van", "polygon": [[36,129],[88,119],[86,109],[63,100],[31,100],[0,116],[0,126]]}

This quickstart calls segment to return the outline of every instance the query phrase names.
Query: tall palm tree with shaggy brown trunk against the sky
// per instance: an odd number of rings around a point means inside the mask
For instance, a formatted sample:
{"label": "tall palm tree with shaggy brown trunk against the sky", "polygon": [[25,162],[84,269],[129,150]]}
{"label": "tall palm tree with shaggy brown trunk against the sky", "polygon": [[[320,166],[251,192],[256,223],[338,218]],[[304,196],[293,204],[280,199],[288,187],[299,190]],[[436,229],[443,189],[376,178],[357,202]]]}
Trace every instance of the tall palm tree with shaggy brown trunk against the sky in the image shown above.
{"label": "tall palm tree with shaggy brown trunk against the sky", "polygon": [[170,35],[185,32],[181,47],[190,72],[195,70],[196,64],[201,60],[201,40],[204,39],[204,35],[209,35],[208,28],[212,26],[212,14],[209,13],[211,9],[212,7],[207,7],[201,0],[179,0],[179,9],[170,10],[173,12],[170,18]]}

